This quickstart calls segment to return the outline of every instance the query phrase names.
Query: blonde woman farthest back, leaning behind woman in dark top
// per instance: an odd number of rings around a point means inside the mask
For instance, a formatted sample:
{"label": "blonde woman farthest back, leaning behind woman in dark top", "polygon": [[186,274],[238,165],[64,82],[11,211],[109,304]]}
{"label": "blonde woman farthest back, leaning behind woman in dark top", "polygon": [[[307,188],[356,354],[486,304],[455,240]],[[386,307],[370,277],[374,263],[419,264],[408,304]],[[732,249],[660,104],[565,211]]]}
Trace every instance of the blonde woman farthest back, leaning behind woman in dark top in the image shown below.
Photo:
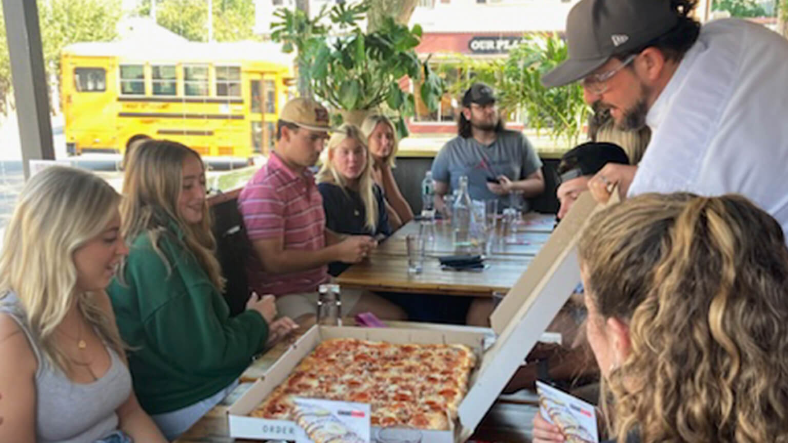
{"label": "blonde woman farthest back, leaning behind woman in dark top", "polygon": [[392,172],[399,147],[396,129],[387,116],[372,114],[362,122],[361,131],[369,140],[373,159],[372,177],[383,190],[388,220],[392,231],[396,231],[413,220],[413,209],[400,192],[400,186],[397,186]]}

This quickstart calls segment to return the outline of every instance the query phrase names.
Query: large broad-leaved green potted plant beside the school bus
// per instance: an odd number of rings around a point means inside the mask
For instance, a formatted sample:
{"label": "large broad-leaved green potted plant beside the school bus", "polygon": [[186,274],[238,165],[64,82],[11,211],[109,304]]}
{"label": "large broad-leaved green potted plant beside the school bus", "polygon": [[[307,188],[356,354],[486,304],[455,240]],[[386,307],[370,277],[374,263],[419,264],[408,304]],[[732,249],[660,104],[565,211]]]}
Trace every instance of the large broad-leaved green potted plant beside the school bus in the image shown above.
{"label": "large broad-leaved green potted plant beside the school bus", "polygon": [[[312,93],[340,111],[344,120],[360,124],[373,109],[386,106],[396,113],[400,136],[407,135],[403,117],[415,112],[414,95],[400,87],[407,78],[421,84],[418,93],[429,109],[437,109],[444,83],[414,48],[421,40],[418,24],[408,28],[385,17],[376,30],[365,32],[359,22],[366,2],[337,3],[312,19],[300,11],[278,9],[272,39],[285,52],[297,49],[302,94]],[[329,24],[323,25],[325,21]]]}

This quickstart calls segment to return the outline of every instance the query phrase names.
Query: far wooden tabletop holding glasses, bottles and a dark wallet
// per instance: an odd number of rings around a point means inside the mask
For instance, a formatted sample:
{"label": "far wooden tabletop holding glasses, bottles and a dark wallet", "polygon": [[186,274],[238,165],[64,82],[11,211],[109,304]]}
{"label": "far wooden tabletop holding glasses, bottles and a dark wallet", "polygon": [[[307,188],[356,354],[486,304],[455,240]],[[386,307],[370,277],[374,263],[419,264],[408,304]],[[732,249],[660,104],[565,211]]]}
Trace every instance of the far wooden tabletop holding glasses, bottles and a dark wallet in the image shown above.
{"label": "far wooden tabletop holding glasses, bottles and a dark wallet", "polygon": [[[336,278],[340,286],[399,293],[440,293],[470,297],[490,297],[506,292],[520,278],[533,257],[547,242],[555,216],[527,214],[515,234],[515,241],[502,236],[492,238],[485,253],[487,268],[482,271],[444,271],[439,257],[455,253],[449,223],[438,220],[434,240],[426,245],[426,259],[420,274],[407,272],[407,234],[418,234],[420,222],[411,221],[396,231],[370,254],[368,260],[354,264]],[[472,251],[481,253],[481,249]],[[463,253],[463,252],[459,252]]]}

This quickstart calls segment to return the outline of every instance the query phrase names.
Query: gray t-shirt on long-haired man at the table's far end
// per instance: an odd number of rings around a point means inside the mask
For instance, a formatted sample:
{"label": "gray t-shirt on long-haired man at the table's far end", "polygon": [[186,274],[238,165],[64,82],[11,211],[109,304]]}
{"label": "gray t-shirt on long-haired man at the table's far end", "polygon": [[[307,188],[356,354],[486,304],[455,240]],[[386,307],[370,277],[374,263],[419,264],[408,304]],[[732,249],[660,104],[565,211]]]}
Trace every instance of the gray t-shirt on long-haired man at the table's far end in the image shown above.
{"label": "gray t-shirt on long-haired man at the table's far end", "polygon": [[[475,138],[455,137],[440,149],[433,161],[433,179],[449,183],[451,190],[459,187],[459,177],[468,176],[468,191],[474,200],[498,198],[498,207],[510,205],[510,196],[496,196],[487,187],[488,178],[506,175],[512,181],[525,179],[541,168],[541,160],[525,135],[504,130],[490,145],[482,145]],[[518,195],[515,205],[528,210],[527,201]]]}

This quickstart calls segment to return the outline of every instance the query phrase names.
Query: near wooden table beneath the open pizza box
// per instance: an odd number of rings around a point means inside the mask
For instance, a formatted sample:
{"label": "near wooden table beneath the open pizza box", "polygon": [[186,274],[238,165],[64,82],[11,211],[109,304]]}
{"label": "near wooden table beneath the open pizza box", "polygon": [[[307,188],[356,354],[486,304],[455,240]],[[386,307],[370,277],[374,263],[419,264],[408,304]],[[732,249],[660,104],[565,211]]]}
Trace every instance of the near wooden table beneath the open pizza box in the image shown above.
{"label": "near wooden table beneath the open pizza box", "polygon": [[[348,321],[351,321],[348,319]],[[401,322],[386,322],[392,327]],[[401,323],[404,324],[404,323]],[[429,327],[429,325],[425,325]],[[452,328],[451,325],[440,325],[441,328]],[[463,327],[467,328],[467,327]],[[485,328],[478,328],[485,330]],[[286,339],[269,349],[265,354],[255,360],[240,377],[241,384],[224,401],[217,404],[202,419],[199,419],[191,428],[181,435],[175,443],[234,443],[248,442],[260,443],[259,440],[235,439],[229,436],[227,423],[227,410],[232,402],[236,401],[262,375],[284,354],[306,329],[296,331],[292,337]],[[492,333],[492,331],[490,331]],[[482,419],[474,439],[485,441],[504,441],[506,443],[519,443],[530,441],[531,420],[538,411],[537,397],[524,391],[519,398],[511,396],[497,401]],[[425,442],[426,443],[426,442]]]}

